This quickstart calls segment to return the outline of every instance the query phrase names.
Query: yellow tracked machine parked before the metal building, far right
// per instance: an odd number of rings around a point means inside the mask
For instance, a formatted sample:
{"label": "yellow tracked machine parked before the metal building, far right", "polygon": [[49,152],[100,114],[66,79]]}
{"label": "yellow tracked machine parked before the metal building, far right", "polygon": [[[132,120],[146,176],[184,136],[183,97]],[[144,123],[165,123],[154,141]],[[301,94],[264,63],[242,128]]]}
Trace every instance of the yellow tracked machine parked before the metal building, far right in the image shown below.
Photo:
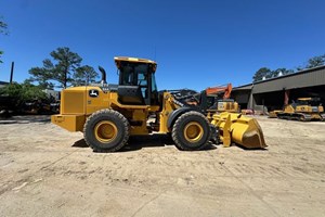
{"label": "yellow tracked machine parked before the metal building, far right", "polygon": [[274,111],[272,115],[281,119],[296,119],[301,122],[325,119],[324,107],[320,104],[318,98],[298,98],[296,102],[286,105],[283,111]]}

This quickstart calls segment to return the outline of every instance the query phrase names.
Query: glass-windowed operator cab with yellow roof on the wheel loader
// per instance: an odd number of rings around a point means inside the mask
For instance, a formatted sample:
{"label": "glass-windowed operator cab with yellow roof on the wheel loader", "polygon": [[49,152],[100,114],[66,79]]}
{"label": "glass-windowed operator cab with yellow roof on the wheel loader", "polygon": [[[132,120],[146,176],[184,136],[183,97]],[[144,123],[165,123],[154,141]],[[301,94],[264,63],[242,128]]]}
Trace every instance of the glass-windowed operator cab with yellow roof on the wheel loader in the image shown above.
{"label": "glass-windowed operator cab with yellow roof on the wheel loader", "polygon": [[121,104],[158,105],[156,62],[135,58],[115,58],[115,63],[119,71],[118,95]]}

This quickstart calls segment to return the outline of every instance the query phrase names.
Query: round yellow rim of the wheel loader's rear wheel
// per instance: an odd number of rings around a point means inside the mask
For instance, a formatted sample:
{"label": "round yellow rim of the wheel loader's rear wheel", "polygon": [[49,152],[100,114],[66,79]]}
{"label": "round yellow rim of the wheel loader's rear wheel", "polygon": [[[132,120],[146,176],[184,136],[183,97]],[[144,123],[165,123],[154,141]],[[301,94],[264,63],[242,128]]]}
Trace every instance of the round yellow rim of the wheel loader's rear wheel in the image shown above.
{"label": "round yellow rim of the wheel loader's rear wheel", "polygon": [[117,127],[114,123],[108,120],[100,122],[95,125],[94,136],[101,142],[110,142],[117,136]]}

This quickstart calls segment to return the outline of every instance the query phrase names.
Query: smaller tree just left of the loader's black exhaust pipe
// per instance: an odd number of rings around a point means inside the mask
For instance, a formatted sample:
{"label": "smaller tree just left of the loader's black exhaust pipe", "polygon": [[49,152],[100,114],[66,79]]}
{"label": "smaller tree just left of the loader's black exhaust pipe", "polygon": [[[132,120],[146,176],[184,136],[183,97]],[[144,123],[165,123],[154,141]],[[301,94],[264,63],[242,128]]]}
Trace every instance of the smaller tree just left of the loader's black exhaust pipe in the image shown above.
{"label": "smaller tree just left of the loader's black exhaust pipe", "polygon": [[76,69],[73,76],[73,86],[82,86],[89,82],[94,82],[99,74],[89,65],[81,66]]}

